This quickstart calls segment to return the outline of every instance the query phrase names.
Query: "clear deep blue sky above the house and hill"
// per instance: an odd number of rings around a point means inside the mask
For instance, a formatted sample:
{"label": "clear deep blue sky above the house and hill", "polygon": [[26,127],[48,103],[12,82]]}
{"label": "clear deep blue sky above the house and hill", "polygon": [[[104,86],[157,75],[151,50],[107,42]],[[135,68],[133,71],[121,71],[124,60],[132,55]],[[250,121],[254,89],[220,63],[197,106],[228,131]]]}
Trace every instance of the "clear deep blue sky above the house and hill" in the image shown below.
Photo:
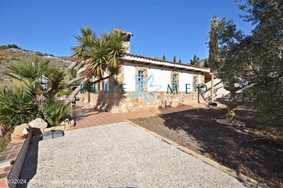
{"label": "clear deep blue sky above the house and hill", "polygon": [[210,18],[233,18],[249,33],[250,23],[233,0],[199,1],[3,1],[0,0],[0,45],[56,56],[69,56],[80,27],[97,32],[122,28],[132,32],[131,53],[189,62],[208,57],[205,44]]}

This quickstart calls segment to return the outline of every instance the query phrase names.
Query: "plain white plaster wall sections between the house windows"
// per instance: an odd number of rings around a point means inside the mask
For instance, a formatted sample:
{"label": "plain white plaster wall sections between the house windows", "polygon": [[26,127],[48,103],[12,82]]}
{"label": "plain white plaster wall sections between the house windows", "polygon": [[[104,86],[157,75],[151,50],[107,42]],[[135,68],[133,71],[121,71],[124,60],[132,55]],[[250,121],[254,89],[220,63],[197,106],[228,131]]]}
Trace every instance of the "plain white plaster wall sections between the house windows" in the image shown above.
{"label": "plain white plaster wall sections between the house windows", "polygon": [[[148,77],[153,74],[153,81],[152,85],[161,86],[161,88],[157,91],[167,92],[168,84],[171,85],[171,72],[172,69],[167,68],[158,68],[153,66],[145,66],[145,65],[138,65],[125,62],[124,64],[124,83],[126,83],[126,92],[133,92],[135,91],[135,67],[142,66],[148,68]],[[185,92],[186,91],[186,83],[190,83],[190,88],[188,91],[192,91],[192,73],[187,71],[178,71],[179,72],[179,91]],[[152,91],[155,89],[149,88],[148,82],[148,91]]]}

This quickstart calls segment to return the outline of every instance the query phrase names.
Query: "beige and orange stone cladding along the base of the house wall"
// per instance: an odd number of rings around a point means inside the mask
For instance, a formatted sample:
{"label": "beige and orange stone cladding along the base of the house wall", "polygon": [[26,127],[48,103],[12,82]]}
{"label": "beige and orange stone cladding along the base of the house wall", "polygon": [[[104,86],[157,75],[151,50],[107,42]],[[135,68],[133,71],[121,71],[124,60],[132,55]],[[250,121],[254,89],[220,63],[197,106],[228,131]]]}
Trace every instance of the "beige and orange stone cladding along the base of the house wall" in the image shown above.
{"label": "beige and orange stone cladding along the base of the house wall", "polygon": [[[146,110],[150,108],[166,108],[166,107],[178,107],[188,105],[192,102],[198,102],[197,92],[179,92],[178,94],[170,92],[153,92],[150,97],[147,94],[148,99],[142,94],[138,98],[134,98],[134,92],[127,92],[121,95],[120,92],[105,93],[100,92],[98,94],[92,92],[86,92],[84,94],[79,93],[76,97],[83,98],[84,102],[89,102],[96,108],[104,109],[111,113],[128,112],[137,110]],[[200,102],[204,102],[203,97],[200,95]],[[151,102],[149,102],[149,100]]]}

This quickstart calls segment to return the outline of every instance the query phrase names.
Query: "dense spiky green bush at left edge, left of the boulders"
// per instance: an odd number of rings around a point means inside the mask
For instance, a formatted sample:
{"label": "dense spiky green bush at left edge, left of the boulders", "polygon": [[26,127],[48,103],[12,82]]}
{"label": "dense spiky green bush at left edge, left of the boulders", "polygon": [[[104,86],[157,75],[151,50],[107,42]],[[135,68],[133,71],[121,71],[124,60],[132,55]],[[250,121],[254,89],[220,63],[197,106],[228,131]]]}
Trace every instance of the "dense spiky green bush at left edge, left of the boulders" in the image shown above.
{"label": "dense spiky green bush at left edge, left of the boulders", "polygon": [[26,92],[0,88],[0,123],[13,129],[37,117],[40,117],[38,106]]}

